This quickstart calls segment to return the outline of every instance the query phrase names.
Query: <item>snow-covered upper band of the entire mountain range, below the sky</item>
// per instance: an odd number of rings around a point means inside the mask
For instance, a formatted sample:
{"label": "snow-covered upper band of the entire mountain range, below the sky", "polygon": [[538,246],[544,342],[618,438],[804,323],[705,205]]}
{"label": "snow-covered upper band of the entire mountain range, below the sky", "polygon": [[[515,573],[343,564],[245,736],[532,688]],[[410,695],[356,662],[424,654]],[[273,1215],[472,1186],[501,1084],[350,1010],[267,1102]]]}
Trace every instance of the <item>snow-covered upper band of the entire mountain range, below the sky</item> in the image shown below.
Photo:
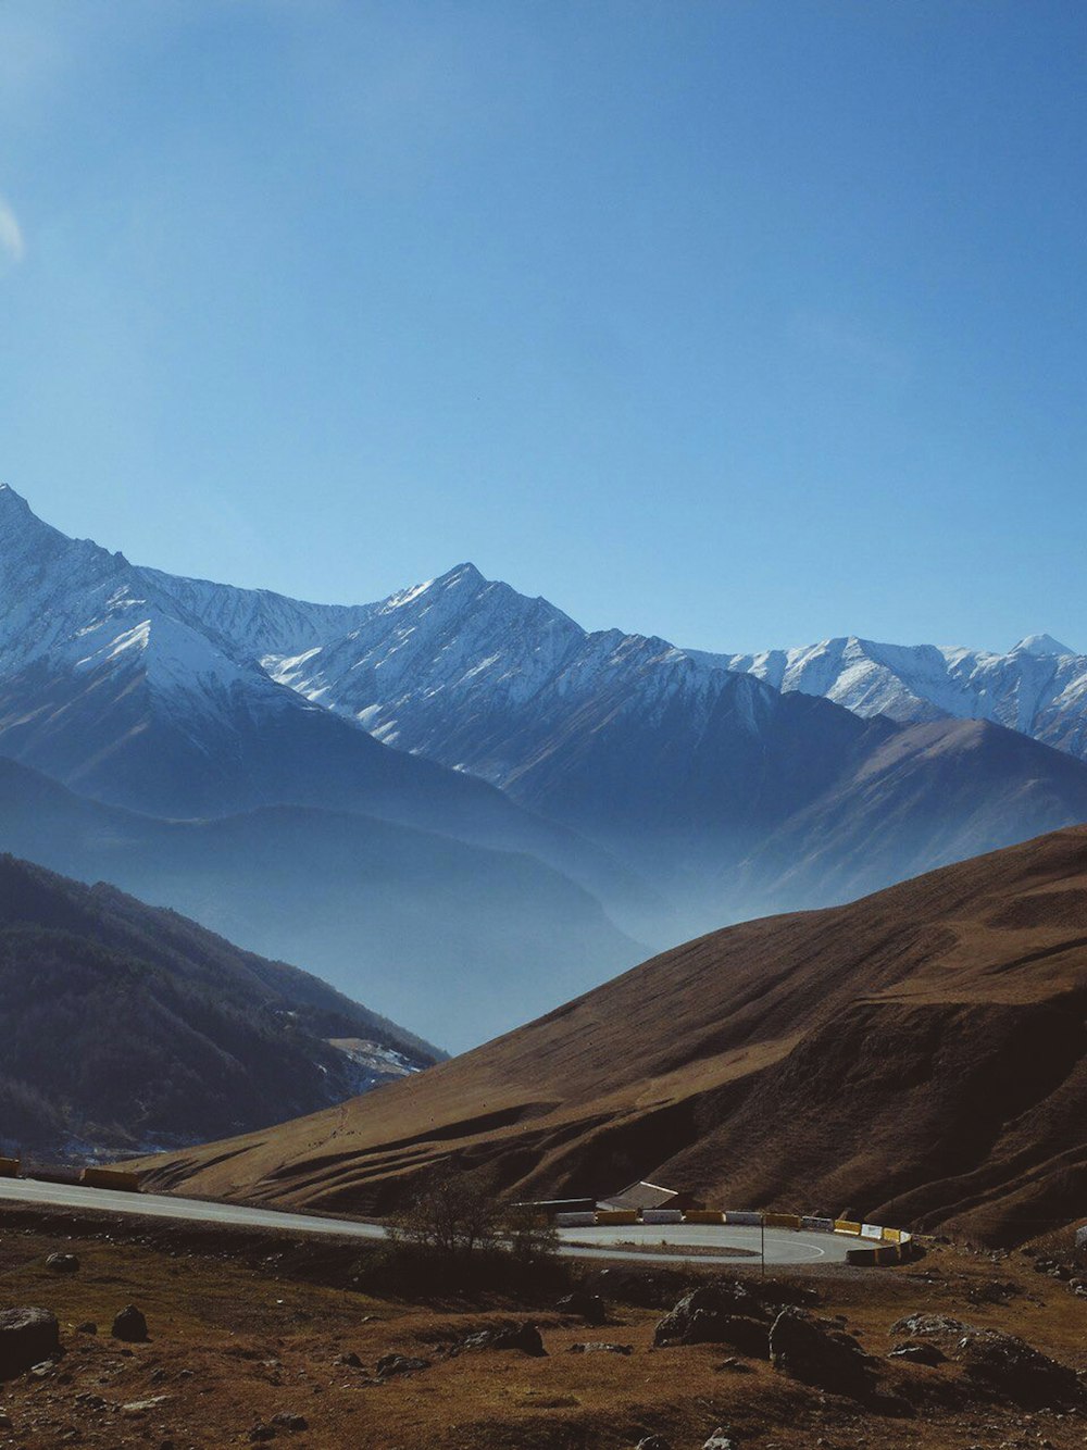
{"label": "snow-covered upper band of the entire mountain range, below the sky", "polygon": [[[74,676],[138,673],[151,700],[228,716],[309,702],[384,744],[497,784],[588,710],[683,716],[697,745],[723,696],[758,734],[781,693],[864,719],[986,719],[1087,758],[1087,655],[1051,635],[1007,654],[855,635],[759,654],[588,632],[472,564],[365,605],[316,605],[132,566],[42,523],[0,484],[0,680],[48,661]],[[736,676],[761,690],[739,692]],[[288,687],[286,690],[284,687]],[[301,697],[301,699],[300,699]],[[677,741],[678,742],[678,741]]]}

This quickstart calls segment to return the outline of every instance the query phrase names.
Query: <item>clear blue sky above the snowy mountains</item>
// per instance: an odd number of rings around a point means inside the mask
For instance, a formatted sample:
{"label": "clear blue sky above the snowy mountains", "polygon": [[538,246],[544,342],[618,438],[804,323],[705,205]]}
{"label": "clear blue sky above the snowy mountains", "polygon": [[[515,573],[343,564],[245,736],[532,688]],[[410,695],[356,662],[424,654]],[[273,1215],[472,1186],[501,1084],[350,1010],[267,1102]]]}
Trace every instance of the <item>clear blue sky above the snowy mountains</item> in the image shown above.
{"label": "clear blue sky above the snowy mountains", "polygon": [[0,0],[0,478],[139,563],[1087,650],[1083,0]]}

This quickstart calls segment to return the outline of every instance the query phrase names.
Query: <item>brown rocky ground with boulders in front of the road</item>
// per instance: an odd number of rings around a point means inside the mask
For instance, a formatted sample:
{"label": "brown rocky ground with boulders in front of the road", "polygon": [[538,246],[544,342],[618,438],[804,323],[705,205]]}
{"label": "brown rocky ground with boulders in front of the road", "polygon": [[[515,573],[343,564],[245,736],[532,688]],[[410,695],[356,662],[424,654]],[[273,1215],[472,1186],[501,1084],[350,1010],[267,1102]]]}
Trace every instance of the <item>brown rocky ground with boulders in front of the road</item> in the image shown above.
{"label": "brown rocky ground with boulders in front of the road", "polygon": [[0,1309],[48,1314],[0,1317],[0,1447],[1065,1450],[1087,1444],[1068,1275],[933,1246],[419,1304],[367,1293],[358,1246],[7,1209]]}

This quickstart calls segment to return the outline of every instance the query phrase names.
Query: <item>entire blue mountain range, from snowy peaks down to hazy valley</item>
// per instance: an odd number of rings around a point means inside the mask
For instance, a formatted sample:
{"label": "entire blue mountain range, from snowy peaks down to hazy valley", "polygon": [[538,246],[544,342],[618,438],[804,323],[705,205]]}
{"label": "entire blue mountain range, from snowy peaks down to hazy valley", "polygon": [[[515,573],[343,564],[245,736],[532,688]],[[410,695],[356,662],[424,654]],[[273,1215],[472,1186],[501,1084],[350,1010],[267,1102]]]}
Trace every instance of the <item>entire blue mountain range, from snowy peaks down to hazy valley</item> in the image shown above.
{"label": "entire blue mountain range, from snowy peaks down to hazy valley", "polygon": [[461,1048],[646,948],[1087,821],[1087,660],[842,644],[778,670],[587,632],[470,564],[304,603],[0,487],[0,848]]}

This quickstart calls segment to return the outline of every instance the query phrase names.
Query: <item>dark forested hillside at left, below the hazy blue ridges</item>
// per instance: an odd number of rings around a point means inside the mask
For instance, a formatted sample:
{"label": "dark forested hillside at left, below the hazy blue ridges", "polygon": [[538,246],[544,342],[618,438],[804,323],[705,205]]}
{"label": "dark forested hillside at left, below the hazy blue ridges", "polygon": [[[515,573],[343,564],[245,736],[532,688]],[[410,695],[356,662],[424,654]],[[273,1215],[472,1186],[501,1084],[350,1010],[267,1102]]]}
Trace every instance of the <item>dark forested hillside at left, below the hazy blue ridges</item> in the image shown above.
{"label": "dark forested hillside at left, below the hazy blue ridges", "polygon": [[267,1127],[441,1056],[296,967],[12,856],[0,1032],[0,1146],[39,1156]]}

